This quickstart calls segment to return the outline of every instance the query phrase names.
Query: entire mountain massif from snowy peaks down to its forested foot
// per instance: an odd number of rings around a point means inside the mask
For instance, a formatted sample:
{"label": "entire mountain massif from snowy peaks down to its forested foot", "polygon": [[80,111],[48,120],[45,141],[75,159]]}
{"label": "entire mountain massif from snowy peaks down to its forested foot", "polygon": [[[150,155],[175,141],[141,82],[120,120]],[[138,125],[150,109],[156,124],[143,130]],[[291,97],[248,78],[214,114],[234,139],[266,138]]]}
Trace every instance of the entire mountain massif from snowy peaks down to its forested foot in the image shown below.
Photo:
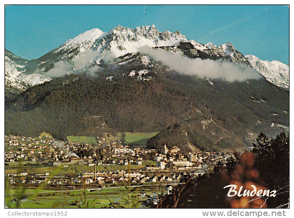
{"label": "entire mountain massif from snowy peaks down to its forested foot", "polygon": [[160,132],[184,152],[289,129],[289,66],[152,26],[92,29],[34,60],[5,50],[5,134]]}

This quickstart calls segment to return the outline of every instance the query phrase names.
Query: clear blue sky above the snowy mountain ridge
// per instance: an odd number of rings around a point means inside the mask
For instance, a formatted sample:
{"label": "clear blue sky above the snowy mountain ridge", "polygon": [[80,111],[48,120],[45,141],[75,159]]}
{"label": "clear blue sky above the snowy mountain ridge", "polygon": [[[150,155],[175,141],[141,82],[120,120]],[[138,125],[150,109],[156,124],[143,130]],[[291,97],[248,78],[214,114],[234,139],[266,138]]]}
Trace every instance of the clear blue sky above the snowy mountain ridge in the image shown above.
{"label": "clear blue sky above the snowy mountain ridge", "polygon": [[[145,8],[145,9],[144,9]],[[5,49],[38,58],[89,29],[107,32],[154,24],[162,32],[242,54],[289,64],[289,7],[285,5],[9,5]]]}

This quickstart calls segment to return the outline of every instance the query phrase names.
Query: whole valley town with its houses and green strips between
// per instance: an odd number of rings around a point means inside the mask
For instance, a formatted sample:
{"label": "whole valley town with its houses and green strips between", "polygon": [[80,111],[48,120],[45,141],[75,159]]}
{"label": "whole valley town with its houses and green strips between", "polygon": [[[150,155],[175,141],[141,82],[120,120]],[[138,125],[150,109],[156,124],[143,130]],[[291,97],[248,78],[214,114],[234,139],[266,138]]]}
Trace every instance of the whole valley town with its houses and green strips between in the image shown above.
{"label": "whole valley town with its houses and green strips between", "polygon": [[[183,183],[183,177],[203,175],[216,163],[233,156],[228,152],[183,154],[178,147],[168,149],[165,144],[160,150],[147,149],[146,145],[128,146],[121,142],[121,136],[110,133],[82,138],[92,141],[63,142],[44,132],[36,138],[5,135],[5,178],[11,190],[23,186],[27,193],[34,193],[43,184],[39,194],[46,196],[41,197],[43,206],[44,201],[62,193],[68,195],[62,207],[74,207],[79,200],[70,197],[72,192],[107,193],[130,187],[136,190],[140,208],[152,208]],[[119,192],[114,201],[99,195],[97,204],[104,208],[123,207],[128,193]],[[23,204],[29,203],[27,195],[21,199]],[[13,202],[13,194],[5,197]]]}

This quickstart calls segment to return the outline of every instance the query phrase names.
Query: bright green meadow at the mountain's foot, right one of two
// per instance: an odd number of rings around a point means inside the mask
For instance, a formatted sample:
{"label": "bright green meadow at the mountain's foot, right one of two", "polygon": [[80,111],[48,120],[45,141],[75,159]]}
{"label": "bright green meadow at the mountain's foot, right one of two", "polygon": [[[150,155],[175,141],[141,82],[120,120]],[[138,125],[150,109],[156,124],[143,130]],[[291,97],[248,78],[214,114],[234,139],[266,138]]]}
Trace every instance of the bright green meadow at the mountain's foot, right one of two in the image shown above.
{"label": "bright green meadow at the mountain's foot, right one of two", "polygon": [[[124,144],[129,145],[146,145],[146,142],[151,137],[157,135],[159,132],[124,132]],[[121,135],[121,133],[120,133]]]}

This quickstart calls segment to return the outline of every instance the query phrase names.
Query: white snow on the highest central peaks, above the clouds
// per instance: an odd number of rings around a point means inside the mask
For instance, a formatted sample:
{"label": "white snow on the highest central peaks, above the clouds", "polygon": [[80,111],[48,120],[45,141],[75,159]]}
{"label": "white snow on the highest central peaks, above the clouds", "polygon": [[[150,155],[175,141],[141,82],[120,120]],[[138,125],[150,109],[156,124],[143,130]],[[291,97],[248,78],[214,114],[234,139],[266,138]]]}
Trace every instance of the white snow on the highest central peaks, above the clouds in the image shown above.
{"label": "white snow on the highest central peaks, above the clouds", "polygon": [[[127,53],[136,53],[138,48],[143,46],[167,47],[174,46],[181,41],[188,40],[178,31],[175,33],[159,32],[154,25],[135,29],[118,26],[109,32],[103,32],[100,29],[88,30],[65,42],[55,52],[72,49],[78,49],[79,52],[110,50],[115,57],[118,57]],[[202,47],[199,46],[199,48]]]}

